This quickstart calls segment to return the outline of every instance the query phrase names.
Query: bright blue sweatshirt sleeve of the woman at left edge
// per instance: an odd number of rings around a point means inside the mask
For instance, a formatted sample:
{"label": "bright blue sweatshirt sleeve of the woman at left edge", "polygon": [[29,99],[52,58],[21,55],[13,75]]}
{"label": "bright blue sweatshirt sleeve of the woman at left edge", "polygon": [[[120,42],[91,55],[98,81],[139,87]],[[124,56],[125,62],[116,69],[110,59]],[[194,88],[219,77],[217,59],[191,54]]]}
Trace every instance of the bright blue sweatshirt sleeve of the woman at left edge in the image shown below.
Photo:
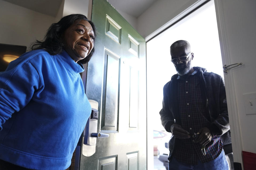
{"label": "bright blue sweatshirt sleeve of the woman at left edge", "polygon": [[39,88],[40,78],[35,67],[29,61],[17,65],[16,62],[0,72],[0,131],[2,124],[24,108]]}

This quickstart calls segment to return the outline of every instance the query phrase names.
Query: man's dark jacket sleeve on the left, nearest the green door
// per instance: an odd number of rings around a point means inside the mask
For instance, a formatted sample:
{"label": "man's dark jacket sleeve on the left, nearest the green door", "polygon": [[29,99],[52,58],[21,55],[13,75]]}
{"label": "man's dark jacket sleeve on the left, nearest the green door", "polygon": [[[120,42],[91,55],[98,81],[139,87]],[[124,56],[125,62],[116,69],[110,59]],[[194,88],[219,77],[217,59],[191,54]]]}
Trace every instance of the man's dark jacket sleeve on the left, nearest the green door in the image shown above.
{"label": "man's dark jacket sleeve on the left, nearest the green door", "polygon": [[175,121],[173,118],[173,114],[171,113],[170,108],[169,108],[169,99],[167,96],[167,94],[169,94],[169,92],[167,92],[165,90],[165,87],[163,88],[163,107],[162,107],[161,111],[159,112],[159,114],[161,116],[161,122],[162,122],[163,127],[165,128],[165,130],[167,132],[171,132],[170,127],[172,124],[175,123]]}

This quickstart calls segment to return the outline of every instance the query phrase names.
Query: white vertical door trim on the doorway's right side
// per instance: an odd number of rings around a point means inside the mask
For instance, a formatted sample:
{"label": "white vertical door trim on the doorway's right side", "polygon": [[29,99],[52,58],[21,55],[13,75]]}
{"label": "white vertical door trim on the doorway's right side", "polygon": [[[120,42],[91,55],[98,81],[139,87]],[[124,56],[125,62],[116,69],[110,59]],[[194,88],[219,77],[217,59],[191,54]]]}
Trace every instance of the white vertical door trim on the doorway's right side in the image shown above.
{"label": "white vertical door trim on the doorway's right side", "polygon": [[[224,8],[222,0],[214,0],[218,32],[219,32],[219,42],[221,47],[221,56],[222,63],[226,65],[230,65],[231,63],[231,55],[229,50],[229,41],[227,39],[227,28],[225,26],[225,17],[224,17]],[[235,94],[235,86],[234,86],[234,76],[233,72],[229,71],[228,74],[224,74],[225,88],[226,88],[226,97],[227,97],[227,108],[229,112],[229,124],[231,131],[231,141],[232,141],[232,149],[234,155],[234,162],[239,162],[242,164],[242,138],[240,131],[240,123],[239,123],[239,114],[238,107],[236,101]]]}

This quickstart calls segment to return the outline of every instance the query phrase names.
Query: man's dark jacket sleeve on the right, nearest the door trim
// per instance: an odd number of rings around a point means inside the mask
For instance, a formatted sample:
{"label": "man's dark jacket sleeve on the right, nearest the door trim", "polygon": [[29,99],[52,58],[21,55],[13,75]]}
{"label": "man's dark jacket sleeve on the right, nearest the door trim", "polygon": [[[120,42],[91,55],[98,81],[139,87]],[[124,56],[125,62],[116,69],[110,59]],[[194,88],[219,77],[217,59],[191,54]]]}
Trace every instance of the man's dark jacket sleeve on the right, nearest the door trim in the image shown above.
{"label": "man's dark jacket sleeve on the right, nearest the door trim", "polygon": [[221,78],[219,84],[219,116],[211,123],[207,128],[210,129],[213,135],[223,135],[227,131],[229,131],[229,115],[227,112],[227,99],[226,99],[226,91],[224,80]]}

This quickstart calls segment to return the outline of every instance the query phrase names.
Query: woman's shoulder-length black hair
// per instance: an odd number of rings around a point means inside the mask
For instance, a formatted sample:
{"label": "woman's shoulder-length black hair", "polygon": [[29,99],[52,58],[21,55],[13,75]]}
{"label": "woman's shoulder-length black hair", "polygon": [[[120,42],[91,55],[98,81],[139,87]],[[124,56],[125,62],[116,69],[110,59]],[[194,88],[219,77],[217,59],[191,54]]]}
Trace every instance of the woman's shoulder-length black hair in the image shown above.
{"label": "woman's shoulder-length black hair", "polygon": [[[86,16],[82,14],[71,14],[61,18],[59,22],[51,24],[50,28],[42,41],[36,40],[31,46],[31,50],[44,49],[51,55],[56,55],[62,52],[64,44],[62,42],[62,35],[76,20],[86,20],[91,24],[94,32],[94,38],[96,37],[96,27],[93,22],[87,19]],[[95,42],[95,40],[94,40]],[[80,60],[82,64],[90,61],[95,50],[91,50],[90,54],[84,59]]]}

